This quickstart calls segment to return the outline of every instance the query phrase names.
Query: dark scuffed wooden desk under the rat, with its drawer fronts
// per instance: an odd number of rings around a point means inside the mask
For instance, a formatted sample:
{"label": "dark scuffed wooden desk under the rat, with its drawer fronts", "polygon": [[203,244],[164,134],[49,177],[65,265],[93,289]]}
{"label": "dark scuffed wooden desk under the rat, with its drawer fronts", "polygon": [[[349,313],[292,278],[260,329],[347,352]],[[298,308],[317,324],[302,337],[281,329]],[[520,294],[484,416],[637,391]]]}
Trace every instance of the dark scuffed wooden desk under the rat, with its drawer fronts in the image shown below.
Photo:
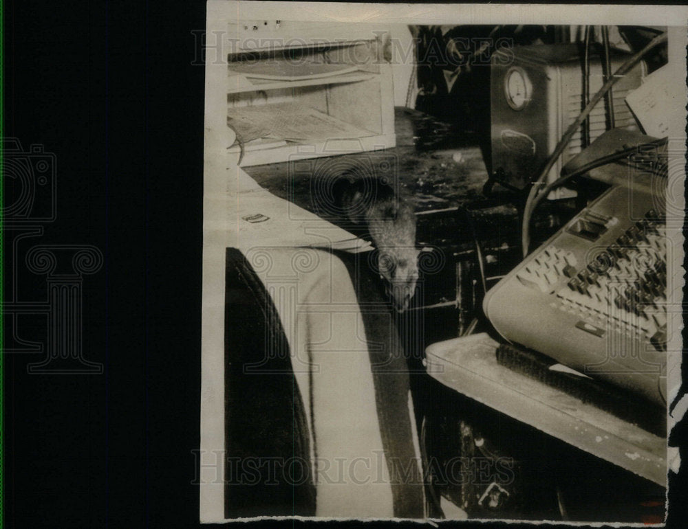
{"label": "dark scuffed wooden desk under the rat, with its drawer fronts", "polygon": [[[445,266],[425,278],[424,299],[418,308],[454,311],[438,326],[448,334],[429,336],[447,339],[462,333],[479,312],[476,310],[482,292],[475,286],[473,230],[486,255],[486,275],[504,275],[520,260],[519,214],[508,201],[499,203],[482,194],[488,179],[484,153],[489,138],[464,131],[460,122],[440,120],[402,107],[395,112],[394,148],[251,166],[245,170],[266,190],[346,229],[351,229],[347,219],[332,212],[327,204],[323,206],[328,181],[336,179],[346,168],[356,167],[359,172],[385,178],[395,185],[416,211],[418,246],[431,247],[442,254]],[[473,227],[465,210],[471,210]],[[547,210],[541,208],[546,213],[543,224],[550,230],[556,229],[557,222],[552,221]],[[536,216],[534,224],[537,222]],[[367,237],[365,233],[356,235]],[[458,323],[449,324],[452,320]]]}

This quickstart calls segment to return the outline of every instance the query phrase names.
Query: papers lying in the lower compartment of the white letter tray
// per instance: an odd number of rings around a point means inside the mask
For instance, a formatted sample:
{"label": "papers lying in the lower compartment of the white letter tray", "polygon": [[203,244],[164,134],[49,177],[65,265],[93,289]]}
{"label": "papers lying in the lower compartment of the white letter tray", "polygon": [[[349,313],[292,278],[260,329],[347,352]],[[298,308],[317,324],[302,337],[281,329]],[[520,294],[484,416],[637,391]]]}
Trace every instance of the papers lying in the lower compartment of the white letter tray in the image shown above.
{"label": "papers lying in the lower compartment of the white letter tray", "polygon": [[227,124],[241,142],[259,137],[303,140],[351,139],[374,135],[364,128],[338,120],[297,103],[245,106],[229,109]]}

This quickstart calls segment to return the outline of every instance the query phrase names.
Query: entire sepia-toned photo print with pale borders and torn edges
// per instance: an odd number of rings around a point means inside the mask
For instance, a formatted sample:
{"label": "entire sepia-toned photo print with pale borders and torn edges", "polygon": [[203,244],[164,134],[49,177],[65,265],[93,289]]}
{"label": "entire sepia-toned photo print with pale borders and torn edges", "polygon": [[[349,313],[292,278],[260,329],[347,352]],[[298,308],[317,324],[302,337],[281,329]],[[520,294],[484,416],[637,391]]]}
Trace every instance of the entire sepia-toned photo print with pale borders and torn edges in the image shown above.
{"label": "entire sepia-toned photo print with pale borders and torn edges", "polygon": [[688,12],[495,7],[208,1],[202,523],[664,524]]}

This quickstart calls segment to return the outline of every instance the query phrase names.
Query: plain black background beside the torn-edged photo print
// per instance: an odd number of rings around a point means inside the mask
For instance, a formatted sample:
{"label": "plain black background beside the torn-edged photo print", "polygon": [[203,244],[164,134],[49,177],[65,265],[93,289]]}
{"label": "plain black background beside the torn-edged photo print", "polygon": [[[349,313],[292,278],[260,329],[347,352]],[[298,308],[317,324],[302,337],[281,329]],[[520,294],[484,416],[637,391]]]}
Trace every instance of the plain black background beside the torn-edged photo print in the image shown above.
{"label": "plain black background beside the torn-edged photo print", "polygon": [[197,526],[205,2],[4,9],[5,136],[57,160],[57,218],[36,242],[105,257],[83,283],[83,354],[103,374],[4,356],[5,522]]}

